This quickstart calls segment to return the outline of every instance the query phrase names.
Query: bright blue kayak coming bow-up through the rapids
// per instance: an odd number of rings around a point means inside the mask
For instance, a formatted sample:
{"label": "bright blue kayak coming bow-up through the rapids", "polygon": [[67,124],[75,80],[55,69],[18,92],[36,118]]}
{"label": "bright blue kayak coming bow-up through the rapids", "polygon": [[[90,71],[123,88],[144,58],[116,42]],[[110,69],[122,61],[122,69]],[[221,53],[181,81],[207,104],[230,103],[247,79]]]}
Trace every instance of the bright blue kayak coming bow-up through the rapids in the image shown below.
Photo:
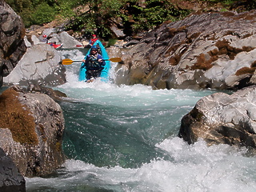
{"label": "bright blue kayak coming bow-up through the rapids", "polygon": [[[102,42],[100,42],[99,40],[97,40],[96,42],[94,42],[94,46],[97,46],[101,51],[99,54],[102,55],[103,60],[105,60],[106,65],[104,66],[104,69],[102,70],[102,74],[100,76],[101,80],[103,82],[107,82],[109,80],[109,72],[110,72],[110,61],[106,61],[107,59],[109,59],[109,55],[106,52],[105,47],[102,45]],[[90,54],[90,50],[88,50],[86,56]],[[79,81],[80,82],[84,82],[86,81],[86,68],[82,67],[83,66],[83,62],[81,64],[80,67],[80,71],[79,71]]]}

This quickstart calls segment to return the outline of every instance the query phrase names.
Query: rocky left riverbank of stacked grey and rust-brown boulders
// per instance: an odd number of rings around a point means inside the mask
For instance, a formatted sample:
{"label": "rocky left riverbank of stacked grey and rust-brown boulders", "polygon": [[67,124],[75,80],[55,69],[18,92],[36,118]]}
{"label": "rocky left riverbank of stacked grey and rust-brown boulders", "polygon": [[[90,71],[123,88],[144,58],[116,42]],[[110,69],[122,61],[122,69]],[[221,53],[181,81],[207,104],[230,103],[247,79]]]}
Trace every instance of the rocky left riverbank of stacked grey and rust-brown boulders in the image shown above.
{"label": "rocky left riverbank of stacked grey and rust-brown boulders", "polygon": [[[27,50],[22,20],[2,0],[0,17],[0,86],[3,77],[12,73],[13,78],[8,76],[8,81],[30,85],[28,89],[33,91],[29,93],[13,86],[0,95],[0,190],[22,192],[26,191],[24,176],[50,174],[64,162],[62,109],[46,94],[35,93],[33,84],[41,84],[38,77],[48,85],[63,83],[65,68],[58,63],[61,58],[49,45]],[[63,75],[58,75],[58,71]],[[51,91],[44,92],[58,97]]]}

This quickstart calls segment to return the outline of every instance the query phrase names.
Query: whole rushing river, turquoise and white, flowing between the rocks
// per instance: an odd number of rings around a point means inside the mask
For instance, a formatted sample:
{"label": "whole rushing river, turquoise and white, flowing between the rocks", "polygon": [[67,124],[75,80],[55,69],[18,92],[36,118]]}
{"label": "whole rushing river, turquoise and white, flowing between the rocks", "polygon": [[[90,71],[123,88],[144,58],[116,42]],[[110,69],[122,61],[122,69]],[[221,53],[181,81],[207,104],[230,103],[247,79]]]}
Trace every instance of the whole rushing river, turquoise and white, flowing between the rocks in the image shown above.
{"label": "whole rushing river, turquoise and white, flowing between the rocks", "polygon": [[[60,53],[83,58],[79,50]],[[27,192],[256,191],[256,159],[246,149],[178,138],[182,117],[216,90],[78,82],[79,66],[66,66],[67,82],[54,87],[72,101],[59,103],[67,160],[46,178],[26,178]]]}

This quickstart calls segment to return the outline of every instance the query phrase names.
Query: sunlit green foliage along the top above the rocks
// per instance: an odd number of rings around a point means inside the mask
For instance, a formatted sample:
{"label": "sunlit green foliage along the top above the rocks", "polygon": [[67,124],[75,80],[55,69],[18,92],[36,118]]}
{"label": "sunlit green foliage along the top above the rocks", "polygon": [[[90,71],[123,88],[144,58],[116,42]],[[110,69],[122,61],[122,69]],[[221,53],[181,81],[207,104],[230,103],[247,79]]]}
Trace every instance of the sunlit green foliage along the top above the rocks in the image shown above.
{"label": "sunlit green foliage along the top above the rocks", "polygon": [[[26,27],[51,22],[56,17],[70,21],[67,29],[97,32],[102,37],[111,35],[115,23],[126,29],[126,34],[151,30],[165,21],[185,18],[192,10],[181,8],[172,0],[6,0],[22,17]],[[255,9],[255,0],[187,0],[209,6],[221,4],[223,10],[243,7]]]}

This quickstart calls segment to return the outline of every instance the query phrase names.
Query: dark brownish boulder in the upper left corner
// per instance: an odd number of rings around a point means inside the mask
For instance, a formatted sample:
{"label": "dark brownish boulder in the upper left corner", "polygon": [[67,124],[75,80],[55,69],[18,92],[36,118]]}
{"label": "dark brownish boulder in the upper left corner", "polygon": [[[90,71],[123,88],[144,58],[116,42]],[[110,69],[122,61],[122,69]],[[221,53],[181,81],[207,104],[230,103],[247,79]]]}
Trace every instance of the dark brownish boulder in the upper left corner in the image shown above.
{"label": "dark brownish boulder in the upper left corner", "polygon": [[2,86],[2,77],[10,74],[26,52],[23,39],[26,30],[22,19],[3,0],[0,0],[0,21],[0,86]]}

